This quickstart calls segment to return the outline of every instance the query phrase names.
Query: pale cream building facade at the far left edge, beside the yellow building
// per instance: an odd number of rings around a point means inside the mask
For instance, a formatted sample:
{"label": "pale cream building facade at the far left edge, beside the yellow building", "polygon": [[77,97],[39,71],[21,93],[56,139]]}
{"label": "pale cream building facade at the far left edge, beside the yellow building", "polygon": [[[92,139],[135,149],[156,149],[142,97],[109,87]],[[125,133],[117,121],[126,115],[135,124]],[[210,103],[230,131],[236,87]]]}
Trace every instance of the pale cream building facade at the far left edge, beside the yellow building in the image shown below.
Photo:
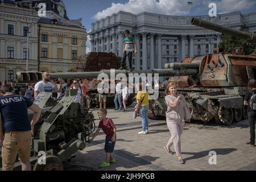
{"label": "pale cream building facade at the far left edge, beside the yellow building", "polygon": [[[17,71],[26,70],[27,53],[28,70],[38,70],[38,20],[35,10],[19,7],[11,1],[1,1],[0,81],[12,80]],[[30,25],[27,51],[27,34]]]}

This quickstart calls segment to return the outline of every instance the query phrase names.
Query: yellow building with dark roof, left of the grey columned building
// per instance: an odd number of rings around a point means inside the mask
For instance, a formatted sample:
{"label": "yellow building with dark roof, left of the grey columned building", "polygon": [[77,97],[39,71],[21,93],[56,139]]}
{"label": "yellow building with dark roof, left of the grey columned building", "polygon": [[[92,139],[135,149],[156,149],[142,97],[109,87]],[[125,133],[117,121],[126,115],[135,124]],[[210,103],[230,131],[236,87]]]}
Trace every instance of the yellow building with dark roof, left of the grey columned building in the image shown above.
{"label": "yellow building with dark roof, left of the grey columned building", "polygon": [[80,20],[40,18],[39,71],[67,72],[73,59],[86,53],[86,29]]}

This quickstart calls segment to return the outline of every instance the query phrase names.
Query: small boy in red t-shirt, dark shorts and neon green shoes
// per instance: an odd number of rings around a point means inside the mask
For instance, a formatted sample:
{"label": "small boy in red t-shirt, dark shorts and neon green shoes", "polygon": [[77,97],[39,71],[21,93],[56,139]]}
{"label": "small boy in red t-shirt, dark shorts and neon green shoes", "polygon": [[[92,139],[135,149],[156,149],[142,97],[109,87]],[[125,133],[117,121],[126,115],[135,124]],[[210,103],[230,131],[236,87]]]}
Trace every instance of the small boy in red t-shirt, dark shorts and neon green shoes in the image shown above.
{"label": "small boy in red t-shirt, dark shorts and neon green shoes", "polygon": [[102,108],[98,111],[98,117],[101,119],[100,123],[98,124],[98,129],[96,133],[94,133],[93,137],[89,140],[89,143],[98,135],[100,130],[102,129],[106,134],[106,141],[105,141],[105,151],[106,151],[106,161],[102,162],[100,167],[109,167],[109,163],[115,163],[115,159],[113,158],[113,150],[115,147],[115,139],[116,139],[116,127],[113,123],[112,119],[106,118],[107,110]]}

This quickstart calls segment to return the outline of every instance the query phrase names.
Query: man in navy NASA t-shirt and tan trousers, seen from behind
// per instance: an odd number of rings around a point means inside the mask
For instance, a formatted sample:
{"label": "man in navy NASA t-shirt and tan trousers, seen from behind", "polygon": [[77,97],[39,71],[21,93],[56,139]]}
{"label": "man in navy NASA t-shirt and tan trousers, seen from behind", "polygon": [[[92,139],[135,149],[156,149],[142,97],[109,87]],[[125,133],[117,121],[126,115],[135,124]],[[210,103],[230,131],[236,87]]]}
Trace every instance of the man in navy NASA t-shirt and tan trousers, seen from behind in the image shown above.
{"label": "man in navy NASA t-shirt and tan trousers, seen from behind", "polygon": [[[30,140],[34,134],[34,125],[40,118],[41,109],[26,97],[13,94],[10,84],[1,87],[0,97],[0,144],[2,146],[2,169],[14,168],[16,156],[23,171],[31,171]],[[28,120],[27,109],[34,111],[32,121]],[[3,127],[2,127],[3,123]]]}

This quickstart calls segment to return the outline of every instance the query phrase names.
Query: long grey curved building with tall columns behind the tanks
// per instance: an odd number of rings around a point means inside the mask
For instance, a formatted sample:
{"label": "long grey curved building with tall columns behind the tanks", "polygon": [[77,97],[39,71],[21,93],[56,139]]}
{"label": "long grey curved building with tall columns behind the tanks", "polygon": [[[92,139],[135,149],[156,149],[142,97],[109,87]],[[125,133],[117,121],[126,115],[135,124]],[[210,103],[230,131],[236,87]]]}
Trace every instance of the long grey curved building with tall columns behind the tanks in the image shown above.
{"label": "long grey curved building with tall columns behind the tanks", "polygon": [[[216,18],[198,18],[220,23],[226,27],[256,32],[256,13],[221,14]],[[137,44],[133,56],[135,69],[163,68],[184,57],[213,53],[221,34],[191,25],[191,16],[171,16],[153,13],[131,14],[119,11],[92,23],[89,33],[92,52],[114,52],[122,57],[124,31],[130,30]]]}

